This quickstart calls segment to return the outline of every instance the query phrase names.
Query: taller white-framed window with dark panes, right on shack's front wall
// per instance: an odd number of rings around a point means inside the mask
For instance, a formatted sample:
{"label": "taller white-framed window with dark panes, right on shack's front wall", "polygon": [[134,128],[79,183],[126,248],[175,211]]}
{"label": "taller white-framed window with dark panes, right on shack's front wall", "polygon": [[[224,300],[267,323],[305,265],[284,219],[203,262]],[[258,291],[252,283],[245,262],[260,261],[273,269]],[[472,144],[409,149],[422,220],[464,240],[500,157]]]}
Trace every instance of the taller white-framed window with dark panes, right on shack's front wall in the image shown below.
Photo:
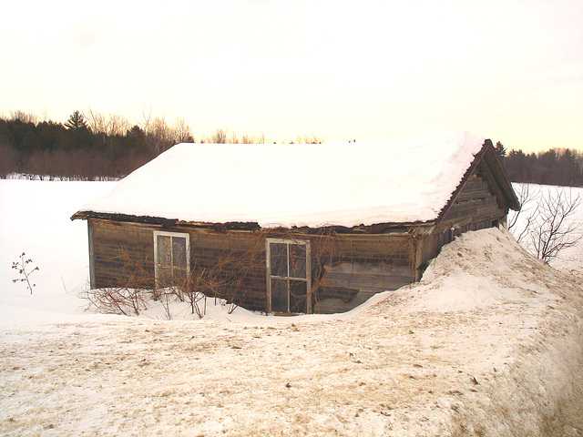
{"label": "taller white-framed window with dark panes, right on shack's front wall", "polygon": [[310,241],[266,239],[267,295],[271,312],[312,312]]}

